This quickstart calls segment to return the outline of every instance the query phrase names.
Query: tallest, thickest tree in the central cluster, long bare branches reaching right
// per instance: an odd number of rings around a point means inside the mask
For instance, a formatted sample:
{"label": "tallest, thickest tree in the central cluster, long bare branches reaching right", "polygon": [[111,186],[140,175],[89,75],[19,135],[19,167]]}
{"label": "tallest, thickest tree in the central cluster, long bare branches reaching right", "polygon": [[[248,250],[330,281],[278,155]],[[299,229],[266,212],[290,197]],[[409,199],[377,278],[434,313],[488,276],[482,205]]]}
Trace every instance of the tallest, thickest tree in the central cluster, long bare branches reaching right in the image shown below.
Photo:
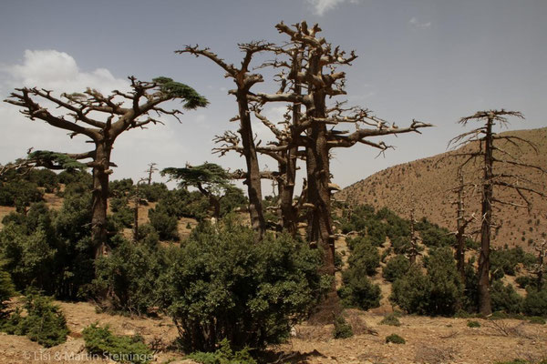
{"label": "tallest, thickest tree in the central cluster, long bare branches reaching right", "polygon": [[[324,254],[323,273],[335,274],[335,232],[331,217],[331,183],[330,157],[336,147],[353,147],[357,143],[377,147],[381,152],[388,146],[384,142],[372,142],[371,136],[387,136],[391,134],[418,132],[419,128],[430,126],[416,120],[408,127],[399,128],[387,126],[387,122],[373,116],[367,109],[361,107],[346,107],[344,102],[329,105],[327,99],[346,95],[344,89],[346,75],[336,71],[337,66],[351,66],[356,59],[355,53],[350,54],[333,47],[325,38],[317,36],[321,31],[318,25],[308,27],[305,22],[293,27],[280,23],[277,30],[288,35],[288,47],[299,49],[302,55],[294,65],[294,58],[279,61],[274,66],[285,67],[291,71],[287,80],[293,85],[301,86],[301,93],[294,87],[289,92],[284,87],[276,94],[257,94],[253,100],[262,104],[268,102],[285,102],[303,106],[298,112],[297,123],[291,126],[291,140],[287,147],[304,147],[306,165],[306,201],[310,207],[308,218],[308,240],[314,246],[322,248]],[[291,63],[292,62],[292,63]],[[292,92],[291,92],[292,91]],[[355,126],[355,130],[339,130],[335,127],[344,123]],[[327,127],[328,126],[328,127]],[[286,147],[285,147],[286,148]],[[331,318],[332,311],[337,307],[338,298],[335,285],[320,308],[318,317]],[[321,313],[323,311],[323,313]]]}

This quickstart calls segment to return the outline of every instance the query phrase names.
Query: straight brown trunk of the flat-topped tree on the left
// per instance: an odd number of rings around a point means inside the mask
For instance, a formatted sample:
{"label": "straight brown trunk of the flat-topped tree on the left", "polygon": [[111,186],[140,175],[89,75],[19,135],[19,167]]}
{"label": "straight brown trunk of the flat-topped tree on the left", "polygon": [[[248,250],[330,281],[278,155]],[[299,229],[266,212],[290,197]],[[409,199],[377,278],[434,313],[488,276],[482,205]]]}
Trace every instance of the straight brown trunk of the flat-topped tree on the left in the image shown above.
{"label": "straight brown trunk of the flat-topped tree on the left", "polygon": [[91,241],[95,258],[108,255],[107,207],[108,177],[111,145],[101,141],[96,145],[96,157],[93,163],[93,192],[91,215]]}

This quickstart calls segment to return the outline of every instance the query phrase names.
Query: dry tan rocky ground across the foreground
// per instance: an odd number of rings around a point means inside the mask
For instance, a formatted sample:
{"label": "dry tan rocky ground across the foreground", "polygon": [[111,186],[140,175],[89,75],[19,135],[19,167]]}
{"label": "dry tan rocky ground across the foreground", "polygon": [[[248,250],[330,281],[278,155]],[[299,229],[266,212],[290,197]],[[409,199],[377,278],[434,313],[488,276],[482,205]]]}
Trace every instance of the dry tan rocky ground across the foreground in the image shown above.
{"label": "dry tan rocky ground across the foreground", "polygon": [[[89,303],[57,302],[67,316],[71,333],[67,342],[44,349],[35,342],[0,333],[1,363],[105,363],[86,355],[81,331],[89,324],[108,324],[119,335],[141,335],[147,343],[165,349],[177,337],[170,319],[130,318],[97,313]],[[468,319],[404,316],[401,326],[381,325],[384,315],[377,311],[346,311],[356,335],[332,339],[332,325],[299,325],[286,344],[271,348],[278,363],[493,363],[497,360],[547,358],[547,325],[527,321],[477,319],[480,328],[467,326]],[[404,345],[387,344],[397,334]],[[191,363],[177,352],[160,351],[157,363]]]}

